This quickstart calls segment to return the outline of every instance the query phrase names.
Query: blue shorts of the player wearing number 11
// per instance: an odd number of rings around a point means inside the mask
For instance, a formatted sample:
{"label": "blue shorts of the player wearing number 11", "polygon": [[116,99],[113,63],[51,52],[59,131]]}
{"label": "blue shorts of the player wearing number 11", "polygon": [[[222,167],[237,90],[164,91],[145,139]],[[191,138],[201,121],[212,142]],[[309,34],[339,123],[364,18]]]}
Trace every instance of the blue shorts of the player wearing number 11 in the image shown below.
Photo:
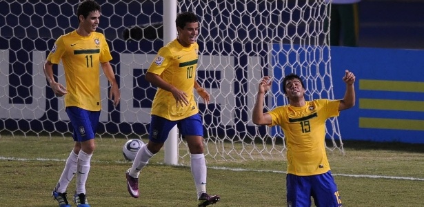
{"label": "blue shorts of the player wearing number 11", "polygon": [[66,113],[74,128],[74,141],[94,139],[99,125],[100,111],[90,111],[75,106],[66,107]]}

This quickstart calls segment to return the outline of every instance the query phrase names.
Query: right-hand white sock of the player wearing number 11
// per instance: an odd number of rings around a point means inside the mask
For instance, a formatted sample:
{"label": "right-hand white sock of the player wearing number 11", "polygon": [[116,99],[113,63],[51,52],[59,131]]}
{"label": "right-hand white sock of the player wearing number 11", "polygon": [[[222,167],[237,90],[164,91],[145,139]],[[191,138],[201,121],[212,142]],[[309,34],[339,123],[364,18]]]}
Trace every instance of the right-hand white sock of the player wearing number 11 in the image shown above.
{"label": "right-hand white sock of the player wearing number 11", "polygon": [[77,167],[77,190],[75,192],[77,194],[85,194],[85,182],[88,178],[88,172],[90,172],[91,156],[92,155],[88,155],[83,150],[79,151]]}

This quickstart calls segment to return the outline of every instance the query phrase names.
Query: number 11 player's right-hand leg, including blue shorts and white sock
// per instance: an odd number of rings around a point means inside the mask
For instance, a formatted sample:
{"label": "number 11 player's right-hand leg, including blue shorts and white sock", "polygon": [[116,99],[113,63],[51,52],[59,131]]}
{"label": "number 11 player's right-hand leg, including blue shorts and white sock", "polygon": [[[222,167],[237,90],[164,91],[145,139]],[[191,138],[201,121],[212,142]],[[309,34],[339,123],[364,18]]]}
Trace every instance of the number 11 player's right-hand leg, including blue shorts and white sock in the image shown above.
{"label": "number 11 player's right-hand leg, including blue shorts and white sock", "polygon": [[[81,145],[77,161],[77,189],[75,190],[74,202],[78,207],[87,207],[89,205],[85,196],[85,183],[90,172],[91,157],[95,148],[94,137],[99,124],[100,111],[92,112],[82,108],[68,107],[66,112],[76,132],[74,141]],[[78,147],[78,144],[76,144],[74,150]]]}

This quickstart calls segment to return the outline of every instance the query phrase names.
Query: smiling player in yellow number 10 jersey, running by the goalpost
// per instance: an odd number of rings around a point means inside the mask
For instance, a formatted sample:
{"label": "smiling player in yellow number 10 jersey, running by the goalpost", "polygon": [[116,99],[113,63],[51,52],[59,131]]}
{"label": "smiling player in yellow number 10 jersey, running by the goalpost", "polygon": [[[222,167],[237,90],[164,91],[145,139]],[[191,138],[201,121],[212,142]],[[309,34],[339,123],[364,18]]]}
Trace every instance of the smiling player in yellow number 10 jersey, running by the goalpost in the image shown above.
{"label": "smiling player in yellow number 10 jersey, running by the goalpost", "polygon": [[145,75],[145,79],[157,86],[158,90],[152,103],[148,144],[140,148],[132,167],[125,172],[128,193],[132,197],[139,197],[141,169],[161,150],[170,130],[178,126],[190,149],[198,206],[208,206],[220,198],[206,193],[203,123],[193,92],[196,90],[205,103],[210,101],[209,93],[196,81],[199,20],[192,12],[182,12],[177,15],[175,23],[178,37],[159,50]]}

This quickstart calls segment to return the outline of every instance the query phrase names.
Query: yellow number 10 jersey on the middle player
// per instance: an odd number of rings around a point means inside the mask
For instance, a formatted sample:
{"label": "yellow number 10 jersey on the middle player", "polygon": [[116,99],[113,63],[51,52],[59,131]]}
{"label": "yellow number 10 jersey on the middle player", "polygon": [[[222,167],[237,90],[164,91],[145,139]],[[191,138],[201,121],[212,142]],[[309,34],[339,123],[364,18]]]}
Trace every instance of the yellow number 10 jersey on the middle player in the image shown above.
{"label": "yellow number 10 jersey on the middle player", "polygon": [[199,113],[193,92],[198,52],[197,43],[185,48],[176,39],[159,50],[148,72],[159,75],[163,81],[183,90],[188,95],[189,104],[177,107],[172,93],[158,88],[152,103],[152,115],[176,121]]}

